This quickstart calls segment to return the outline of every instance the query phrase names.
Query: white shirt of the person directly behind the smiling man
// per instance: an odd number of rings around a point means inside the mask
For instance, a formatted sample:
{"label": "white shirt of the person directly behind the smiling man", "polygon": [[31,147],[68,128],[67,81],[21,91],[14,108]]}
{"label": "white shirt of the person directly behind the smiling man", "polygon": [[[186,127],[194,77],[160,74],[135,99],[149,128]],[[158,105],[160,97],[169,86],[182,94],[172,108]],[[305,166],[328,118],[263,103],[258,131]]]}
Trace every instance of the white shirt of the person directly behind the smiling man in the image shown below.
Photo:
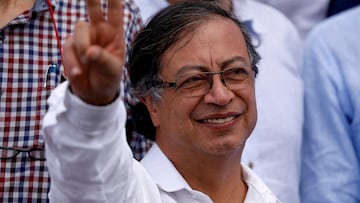
{"label": "white shirt of the person directly behind the smiling man", "polygon": [[[144,22],[168,5],[166,0],[135,0]],[[295,26],[279,11],[253,0],[234,0],[241,21],[252,21],[260,37],[262,59],[256,78],[258,121],[243,152],[283,202],[299,203],[300,146],[303,126],[301,39]],[[259,45],[258,38],[253,38]]]}

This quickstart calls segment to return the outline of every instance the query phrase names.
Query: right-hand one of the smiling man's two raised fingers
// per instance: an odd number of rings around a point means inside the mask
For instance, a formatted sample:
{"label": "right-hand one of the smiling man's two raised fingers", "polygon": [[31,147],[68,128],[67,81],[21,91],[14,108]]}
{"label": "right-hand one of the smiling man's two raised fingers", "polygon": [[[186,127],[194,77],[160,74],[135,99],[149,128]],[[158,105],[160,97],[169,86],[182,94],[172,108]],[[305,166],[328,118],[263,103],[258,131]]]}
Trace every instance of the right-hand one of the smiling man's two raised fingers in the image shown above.
{"label": "right-hand one of the smiling man's two raised fingers", "polygon": [[122,0],[108,0],[108,22],[117,29],[123,29],[124,9]]}

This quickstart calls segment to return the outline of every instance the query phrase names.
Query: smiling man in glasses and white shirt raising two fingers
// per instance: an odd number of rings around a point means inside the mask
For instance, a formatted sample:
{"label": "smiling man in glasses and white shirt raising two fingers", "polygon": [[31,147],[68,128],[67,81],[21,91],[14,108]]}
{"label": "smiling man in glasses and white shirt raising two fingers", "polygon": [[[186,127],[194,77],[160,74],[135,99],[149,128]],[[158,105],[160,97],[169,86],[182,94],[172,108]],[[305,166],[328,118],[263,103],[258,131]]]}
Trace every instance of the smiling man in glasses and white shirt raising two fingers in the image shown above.
{"label": "smiling man in glasses and white shirt raising two fingers", "polygon": [[78,24],[64,47],[69,83],[44,120],[52,202],[279,202],[239,162],[256,123],[259,60],[243,26],[215,4],[193,2],[162,10],[139,33],[130,77],[156,127],[140,166],[118,97],[122,9],[109,5],[108,23],[89,5],[91,24]]}

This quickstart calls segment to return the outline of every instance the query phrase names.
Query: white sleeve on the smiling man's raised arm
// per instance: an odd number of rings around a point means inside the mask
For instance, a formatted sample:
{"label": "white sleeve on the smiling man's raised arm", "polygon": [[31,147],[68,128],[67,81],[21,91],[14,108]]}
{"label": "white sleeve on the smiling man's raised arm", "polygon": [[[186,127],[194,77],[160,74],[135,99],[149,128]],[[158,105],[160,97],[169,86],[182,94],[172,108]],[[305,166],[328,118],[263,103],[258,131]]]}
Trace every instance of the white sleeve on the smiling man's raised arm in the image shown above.
{"label": "white sleeve on the smiling man's raised arm", "polygon": [[161,202],[127,146],[121,99],[91,106],[72,95],[65,82],[48,103],[43,129],[50,202]]}

